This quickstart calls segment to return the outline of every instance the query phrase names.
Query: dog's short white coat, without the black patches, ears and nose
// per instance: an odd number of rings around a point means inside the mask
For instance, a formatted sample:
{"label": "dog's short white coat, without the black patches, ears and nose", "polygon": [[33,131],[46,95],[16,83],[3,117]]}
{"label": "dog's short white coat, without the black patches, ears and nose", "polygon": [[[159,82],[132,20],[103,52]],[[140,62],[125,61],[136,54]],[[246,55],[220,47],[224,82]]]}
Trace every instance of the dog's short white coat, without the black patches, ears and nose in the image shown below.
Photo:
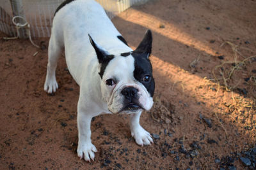
{"label": "dog's short white coat, without the black patches, ears and nose", "polygon": [[[100,64],[88,34],[97,42],[99,48],[115,55],[106,67],[102,79],[98,74]],[[131,55],[120,56],[120,53],[131,52],[132,49],[116,38],[117,36],[120,33],[100,4],[93,0],[76,0],[66,4],[56,13],[52,22],[44,90],[52,93],[58,89],[55,71],[61,50],[65,48],[68,70],[80,86],[77,104],[77,155],[88,161],[93,160],[94,152],[97,152],[91,141],[91,120],[102,113],[117,113],[120,110],[120,90],[125,86],[136,87],[141,96],[141,105],[149,110],[153,104],[147,89],[134,80],[134,58]],[[105,82],[111,76],[119,79],[115,89],[107,86]],[[138,145],[150,145],[153,142],[150,133],[140,125],[141,111],[130,114],[131,135]]]}

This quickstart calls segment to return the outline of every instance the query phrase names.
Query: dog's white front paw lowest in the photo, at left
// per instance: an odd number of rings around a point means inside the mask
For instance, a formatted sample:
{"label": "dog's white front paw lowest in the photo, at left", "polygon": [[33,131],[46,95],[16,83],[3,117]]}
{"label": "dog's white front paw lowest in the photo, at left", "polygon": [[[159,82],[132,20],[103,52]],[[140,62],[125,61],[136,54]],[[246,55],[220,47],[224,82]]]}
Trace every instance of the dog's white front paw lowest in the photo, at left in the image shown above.
{"label": "dog's white front paw lowest in the photo, at left", "polygon": [[81,143],[77,147],[77,156],[80,159],[89,161],[94,160],[94,152],[97,152],[96,147],[92,143]]}

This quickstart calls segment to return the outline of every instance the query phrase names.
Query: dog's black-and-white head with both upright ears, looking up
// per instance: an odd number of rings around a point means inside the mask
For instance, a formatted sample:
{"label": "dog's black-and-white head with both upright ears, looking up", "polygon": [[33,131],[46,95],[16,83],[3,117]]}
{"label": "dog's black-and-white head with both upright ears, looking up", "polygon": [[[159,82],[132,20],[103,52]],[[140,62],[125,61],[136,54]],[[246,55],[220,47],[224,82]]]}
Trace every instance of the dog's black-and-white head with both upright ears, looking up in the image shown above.
{"label": "dog's black-and-white head with both upright ears, looking up", "polygon": [[153,105],[155,82],[148,59],[152,33],[147,31],[136,50],[109,55],[90,37],[99,60],[102,97],[112,113],[139,113]]}

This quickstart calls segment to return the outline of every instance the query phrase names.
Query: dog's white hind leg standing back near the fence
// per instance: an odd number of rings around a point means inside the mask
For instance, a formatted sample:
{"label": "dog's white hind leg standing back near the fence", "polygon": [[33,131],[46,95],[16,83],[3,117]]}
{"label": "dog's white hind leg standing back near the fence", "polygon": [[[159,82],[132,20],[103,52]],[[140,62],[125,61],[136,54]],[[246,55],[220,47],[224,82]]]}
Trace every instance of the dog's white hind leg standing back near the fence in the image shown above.
{"label": "dog's white hind leg standing back near the fence", "polygon": [[47,93],[56,92],[56,90],[58,89],[55,72],[60,53],[61,46],[58,43],[56,37],[54,37],[54,35],[52,34],[49,41],[47,73],[44,83],[44,90]]}

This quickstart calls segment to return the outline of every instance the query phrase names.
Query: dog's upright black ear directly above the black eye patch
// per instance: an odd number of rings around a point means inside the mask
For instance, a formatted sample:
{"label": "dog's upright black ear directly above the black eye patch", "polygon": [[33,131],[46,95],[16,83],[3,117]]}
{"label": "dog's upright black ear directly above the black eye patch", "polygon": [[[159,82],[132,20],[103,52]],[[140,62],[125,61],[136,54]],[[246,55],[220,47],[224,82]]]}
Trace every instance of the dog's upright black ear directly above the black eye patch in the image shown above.
{"label": "dog's upright black ear directly above the black eye patch", "polygon": [[136,48],[136,50],[134,50],[134,52],[147,54],[148,57],[151,53],[152,39],[152,32],[150,29],[148,29],[140,45]]}

